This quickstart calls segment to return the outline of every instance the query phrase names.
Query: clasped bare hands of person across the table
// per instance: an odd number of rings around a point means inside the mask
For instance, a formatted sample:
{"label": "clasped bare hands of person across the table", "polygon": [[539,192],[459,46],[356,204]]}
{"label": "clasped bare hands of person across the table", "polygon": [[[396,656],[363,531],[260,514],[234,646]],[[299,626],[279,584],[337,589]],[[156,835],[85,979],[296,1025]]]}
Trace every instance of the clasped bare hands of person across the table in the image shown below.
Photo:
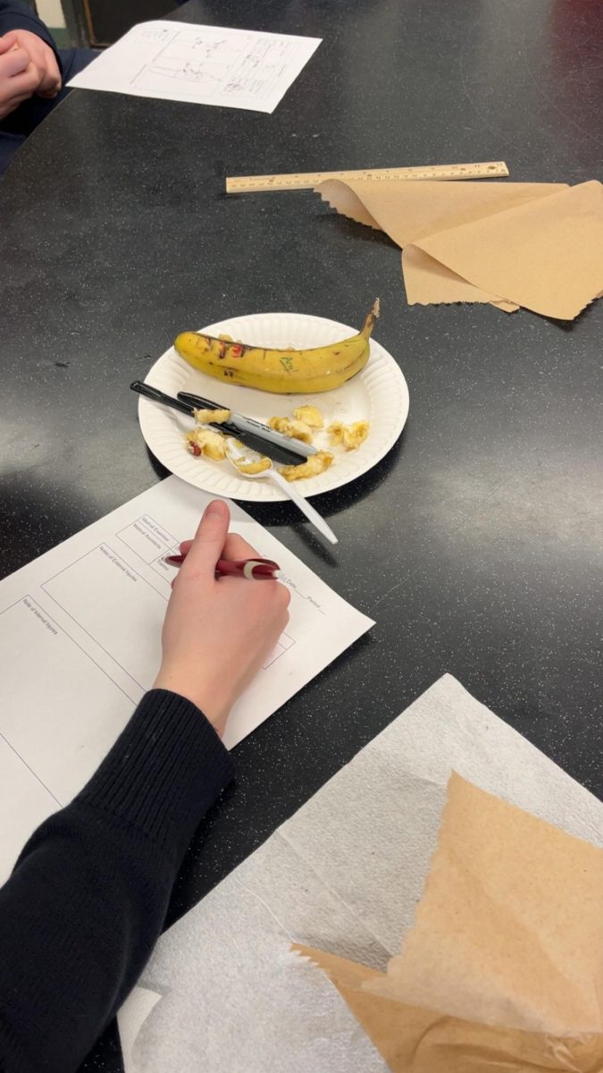
{"label": "clasped bare hands of person across the table", "polygon": [[0,38],[0,119],[36,93],[54,98],[61,75],[49,45],[29,30],[12,30]]}

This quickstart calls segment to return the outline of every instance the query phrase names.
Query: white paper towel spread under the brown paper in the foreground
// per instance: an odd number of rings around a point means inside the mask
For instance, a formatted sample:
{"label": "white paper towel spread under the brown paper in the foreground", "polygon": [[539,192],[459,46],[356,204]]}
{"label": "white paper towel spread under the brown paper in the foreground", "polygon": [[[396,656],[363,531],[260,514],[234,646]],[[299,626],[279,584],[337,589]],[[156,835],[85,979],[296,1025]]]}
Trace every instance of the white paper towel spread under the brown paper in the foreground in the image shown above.
{"label": "white paper towel spread under the brown paper in the foreground", "polygon": [[127,1073],[384,1073],[290,941],[384,969],[437,841],[452,769],[603,844],[603,805],[445,675],[158,943],[165,997]]}

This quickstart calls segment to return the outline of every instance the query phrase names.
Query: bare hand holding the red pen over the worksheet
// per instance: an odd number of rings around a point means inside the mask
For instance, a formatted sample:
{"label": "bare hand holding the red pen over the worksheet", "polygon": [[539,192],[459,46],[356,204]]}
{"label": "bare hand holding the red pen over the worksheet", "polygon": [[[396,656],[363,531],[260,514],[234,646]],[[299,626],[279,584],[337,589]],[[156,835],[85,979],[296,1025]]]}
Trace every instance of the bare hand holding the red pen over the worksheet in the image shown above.
{"label": "bare hand holding the red pen over the worksheet", "polygon": [[289,589],[276,580],[216,577],[218,559],[258,556],[229,534],[230,513],[215,500],[173,586],[163,626],[163,658],[155,686],[196,704],[219,734],[230,710],[275,647],[289,621]]}

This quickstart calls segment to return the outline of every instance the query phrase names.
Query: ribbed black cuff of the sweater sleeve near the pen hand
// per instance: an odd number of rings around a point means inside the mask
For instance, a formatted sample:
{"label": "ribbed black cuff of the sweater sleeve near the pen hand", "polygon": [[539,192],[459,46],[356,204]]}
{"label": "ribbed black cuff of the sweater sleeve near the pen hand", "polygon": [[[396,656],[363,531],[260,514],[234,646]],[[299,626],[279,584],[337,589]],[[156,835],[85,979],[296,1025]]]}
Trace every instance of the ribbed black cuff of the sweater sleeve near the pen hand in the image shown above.
{"label": "ribbed black cuff of the sweater sleeve near the pen hand", "polygon": [[75,800],[119,815],[183,853],[233,776],[226,748],[198,708],[153,689]]}

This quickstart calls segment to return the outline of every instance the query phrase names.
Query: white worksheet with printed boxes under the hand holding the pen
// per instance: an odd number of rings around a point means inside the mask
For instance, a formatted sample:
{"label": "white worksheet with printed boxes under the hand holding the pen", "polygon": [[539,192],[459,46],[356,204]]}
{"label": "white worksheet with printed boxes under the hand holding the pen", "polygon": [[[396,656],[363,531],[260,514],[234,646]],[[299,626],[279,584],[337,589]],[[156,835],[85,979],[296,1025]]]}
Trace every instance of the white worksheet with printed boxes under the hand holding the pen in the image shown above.
{"label": "white worksheet with printed boxes under the hand holding the pen", "polygon": [[[0,583],[0,882],[38,824],[84,787],[152,686],[177,569],[164,557],[194,535],[212,498],[170,476]],[[227,748],[373,624],[230,508],[231,528],[279,563],[291,604],[285,632],[231,714]]]}

